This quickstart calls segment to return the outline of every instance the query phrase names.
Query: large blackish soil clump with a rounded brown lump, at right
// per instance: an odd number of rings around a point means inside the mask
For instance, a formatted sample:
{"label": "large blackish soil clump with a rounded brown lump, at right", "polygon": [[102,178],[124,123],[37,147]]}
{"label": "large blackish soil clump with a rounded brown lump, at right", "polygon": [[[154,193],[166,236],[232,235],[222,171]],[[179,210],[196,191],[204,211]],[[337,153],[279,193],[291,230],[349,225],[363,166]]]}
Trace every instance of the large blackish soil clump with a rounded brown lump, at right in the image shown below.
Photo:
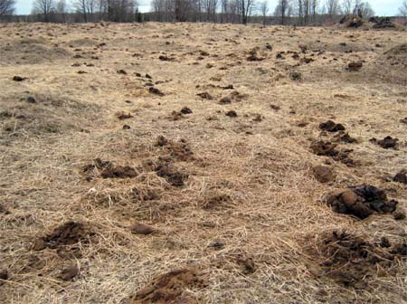
{"label": "large blackish soil clump with a rounded brown lump, at right", "polygon": [[365,219],[372,214],[390,214],[398,204],[374,185],[339,189],[327,195],[327,204],[338,214],[350,214]]}

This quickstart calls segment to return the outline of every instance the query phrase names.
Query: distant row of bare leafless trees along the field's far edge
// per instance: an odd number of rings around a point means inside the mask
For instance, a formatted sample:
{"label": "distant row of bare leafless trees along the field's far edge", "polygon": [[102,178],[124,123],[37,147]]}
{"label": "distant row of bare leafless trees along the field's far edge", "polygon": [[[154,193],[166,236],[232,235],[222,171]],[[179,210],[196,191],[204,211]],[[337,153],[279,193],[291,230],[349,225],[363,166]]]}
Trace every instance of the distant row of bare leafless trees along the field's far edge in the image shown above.
{"label": "distant row of bare leafless trees along the field's far edge", "polygon": [[[401,20],[407,23],[407,0],[401,0]],[[374,16],[369,1],[279,0],[270,11],[268,1],[152,0],[148,13],[137,0],[34,0],[32,13],[14,15],[15,0],[0,0],[0,20],[6,22],[212,22],[232,24],[334,24],[342,16]]]}

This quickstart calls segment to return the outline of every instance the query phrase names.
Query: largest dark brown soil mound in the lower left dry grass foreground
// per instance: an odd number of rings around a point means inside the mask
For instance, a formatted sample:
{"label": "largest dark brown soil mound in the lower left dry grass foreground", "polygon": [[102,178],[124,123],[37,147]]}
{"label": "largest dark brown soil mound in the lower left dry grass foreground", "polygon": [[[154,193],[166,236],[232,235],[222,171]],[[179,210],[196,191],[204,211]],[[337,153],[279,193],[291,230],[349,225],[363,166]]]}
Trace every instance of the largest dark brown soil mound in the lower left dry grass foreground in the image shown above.
{"label": "largest dark brown soil mound in the lower left dry grass foreground", "polygon": [[52,233],[35,240],[33,250],[57,249],[60,246],[73,245],[78,242],[89,242],[89,238],[93,234],[85,223],[70,221],[55,228]]}

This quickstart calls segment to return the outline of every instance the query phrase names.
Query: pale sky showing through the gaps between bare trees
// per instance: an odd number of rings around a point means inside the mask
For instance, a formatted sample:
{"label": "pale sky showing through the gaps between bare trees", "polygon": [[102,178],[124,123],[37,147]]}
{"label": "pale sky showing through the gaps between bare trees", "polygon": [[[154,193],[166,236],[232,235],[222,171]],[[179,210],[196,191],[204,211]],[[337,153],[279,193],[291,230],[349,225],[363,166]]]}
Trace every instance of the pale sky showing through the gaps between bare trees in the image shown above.
{"label": "pale sky showing through the gaps between bare trees", "polygon": [[[30,14],[33,5],[33,0],[16,0],[17,14]],[[324,0],[322,0],[324,1]],[[70,0],[67,0],[70,2]],[[278,0],[269,0],[270,12],[274,11]],[[150,9],[150,0],[138,0],[139,9],[141,12],[148,12]],[[377,15],[396,15],[402,4],[402,0],[370,0],[374,12]]]}

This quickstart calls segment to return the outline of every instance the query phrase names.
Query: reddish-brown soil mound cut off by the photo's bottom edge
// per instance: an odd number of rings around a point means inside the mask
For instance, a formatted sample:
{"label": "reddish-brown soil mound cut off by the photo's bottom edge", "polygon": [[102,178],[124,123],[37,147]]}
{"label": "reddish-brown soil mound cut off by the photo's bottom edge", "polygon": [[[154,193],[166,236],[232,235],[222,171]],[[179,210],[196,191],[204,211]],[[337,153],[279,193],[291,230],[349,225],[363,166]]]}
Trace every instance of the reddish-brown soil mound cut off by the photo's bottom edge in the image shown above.
{"label": "reddish-brown soil mound cut off by the photo's bottom edge", "polygon": [[201,274],[193,269],[179,269],[162,274],[152,280],[147,287],[138,290],[130,297],[129,304],[183,303],[197,304],[196,299],[183,295],[185,290],[203,289],[208,284]]}

